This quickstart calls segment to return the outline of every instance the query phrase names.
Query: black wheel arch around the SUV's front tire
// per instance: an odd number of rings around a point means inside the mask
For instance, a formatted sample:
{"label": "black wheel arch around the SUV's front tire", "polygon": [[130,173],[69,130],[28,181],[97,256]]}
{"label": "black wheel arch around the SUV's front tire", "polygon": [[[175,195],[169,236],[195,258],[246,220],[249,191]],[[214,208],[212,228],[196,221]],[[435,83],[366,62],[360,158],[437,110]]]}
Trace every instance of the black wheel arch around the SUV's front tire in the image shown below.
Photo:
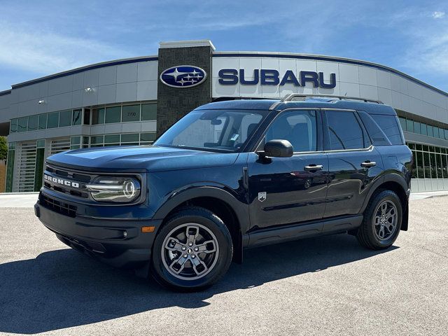
{"label": "black wheel arch around the SUV's front tire", "polygon": [[[201,207],[207,209],[224,222],[225,226],[227,226],[230,235],[232,236],[232,244],[234,249],[233,259],[235,262],[242,262],[242,235],[241,235],[241,225],[238,221],[237,214],[230,207],[227,202],[220,200],[216,197],[197,197],[186,202],[179,204],[177,207],[169,211],[169,214],[165,216],[165,221],[172,214],[175,214],[179,209],[184,207]],[[163,225],[162,223],[162,225]]]}

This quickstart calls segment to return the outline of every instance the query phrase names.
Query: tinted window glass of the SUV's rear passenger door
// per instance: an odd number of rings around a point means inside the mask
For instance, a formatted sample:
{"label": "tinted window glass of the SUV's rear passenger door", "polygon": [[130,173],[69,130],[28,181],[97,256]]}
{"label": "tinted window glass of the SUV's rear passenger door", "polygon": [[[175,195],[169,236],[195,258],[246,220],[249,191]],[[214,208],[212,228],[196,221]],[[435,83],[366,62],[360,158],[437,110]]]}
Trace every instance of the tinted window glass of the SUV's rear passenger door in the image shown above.
{"label": "tinted window glass of the SUV's rear passenger door", "polygon": [[365,148],[363,129],[350,111],[326,111],[330,149]]}

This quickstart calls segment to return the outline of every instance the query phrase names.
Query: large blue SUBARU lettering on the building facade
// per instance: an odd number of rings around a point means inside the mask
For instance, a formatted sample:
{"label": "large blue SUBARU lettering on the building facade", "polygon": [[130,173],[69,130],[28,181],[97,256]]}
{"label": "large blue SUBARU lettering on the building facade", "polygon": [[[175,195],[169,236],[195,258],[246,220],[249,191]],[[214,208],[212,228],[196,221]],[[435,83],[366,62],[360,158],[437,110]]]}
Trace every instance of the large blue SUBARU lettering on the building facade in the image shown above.
{"label": "large blue SUBARU lettering on the building facade", "polygon": [[[254,69],[253,73],[245,73],[244,69],[221,69],[218,72],[219,83],[221,85],[280,85],[293,84],[295,86],[305,86],[311,83],[314,87],[332,89],[336,87],[336,73],[330,73],[325,77],[323,72],[286,70],[279,73],[275,69]],[[248,79],[249,78],[249,79]]]}

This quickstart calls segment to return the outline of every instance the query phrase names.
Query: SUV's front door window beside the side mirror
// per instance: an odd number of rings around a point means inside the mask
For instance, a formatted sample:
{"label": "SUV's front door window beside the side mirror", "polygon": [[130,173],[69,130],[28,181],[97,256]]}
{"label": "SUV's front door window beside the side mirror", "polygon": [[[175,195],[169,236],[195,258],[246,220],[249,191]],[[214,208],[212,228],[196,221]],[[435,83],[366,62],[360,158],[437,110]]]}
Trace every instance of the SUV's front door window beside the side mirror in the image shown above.
{"label": "SUV's front door window beside the side mirror", "polygon": [[316,130],[316,111],[283,112],[267,129],[265,141],[288,140],[295,152],[316,151]]}

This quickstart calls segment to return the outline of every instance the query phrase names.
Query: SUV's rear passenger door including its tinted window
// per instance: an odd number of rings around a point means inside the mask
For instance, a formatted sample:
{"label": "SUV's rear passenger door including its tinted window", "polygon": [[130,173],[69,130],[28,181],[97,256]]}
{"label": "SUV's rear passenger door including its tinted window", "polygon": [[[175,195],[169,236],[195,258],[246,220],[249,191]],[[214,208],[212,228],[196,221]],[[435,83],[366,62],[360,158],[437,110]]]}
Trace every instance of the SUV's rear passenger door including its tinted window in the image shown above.
{"label": "SUV's rear passenger door including its tinted window", "polygon": [[324,217],[358,214],[383,171],[381,155],[356,111],[325,109],[323,120],[330,172]]}

